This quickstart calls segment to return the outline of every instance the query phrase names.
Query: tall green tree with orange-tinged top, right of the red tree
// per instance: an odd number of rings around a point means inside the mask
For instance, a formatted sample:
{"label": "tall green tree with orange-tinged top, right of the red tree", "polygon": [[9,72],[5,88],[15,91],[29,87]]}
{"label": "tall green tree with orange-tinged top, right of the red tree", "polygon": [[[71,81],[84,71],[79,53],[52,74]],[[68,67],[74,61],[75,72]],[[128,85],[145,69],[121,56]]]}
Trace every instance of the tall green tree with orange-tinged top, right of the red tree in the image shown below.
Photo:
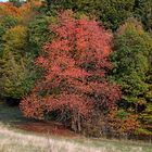
{"label": "tall green tree with orange-tinged top, right of the red tree", "polygon": [[139,23],[127,22],[121,26],[114,39],[112,61],[115,65],[113,73],[122,86],[125,101],[138,102],[138,97],[148,91],[151,51],[152,38]]}

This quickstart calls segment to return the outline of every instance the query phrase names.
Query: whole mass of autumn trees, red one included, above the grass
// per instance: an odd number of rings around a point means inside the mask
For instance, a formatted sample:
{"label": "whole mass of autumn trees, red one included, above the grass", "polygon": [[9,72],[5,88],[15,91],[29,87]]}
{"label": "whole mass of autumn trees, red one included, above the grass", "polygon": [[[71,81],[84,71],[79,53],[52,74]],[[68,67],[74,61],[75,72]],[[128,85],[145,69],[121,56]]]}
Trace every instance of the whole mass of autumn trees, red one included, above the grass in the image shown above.
{"label": "whole mass of autumn trees, red one included, above the grass", "polygon": [[152,136],[151,0],[0,3],[0,98],[91,136]]}

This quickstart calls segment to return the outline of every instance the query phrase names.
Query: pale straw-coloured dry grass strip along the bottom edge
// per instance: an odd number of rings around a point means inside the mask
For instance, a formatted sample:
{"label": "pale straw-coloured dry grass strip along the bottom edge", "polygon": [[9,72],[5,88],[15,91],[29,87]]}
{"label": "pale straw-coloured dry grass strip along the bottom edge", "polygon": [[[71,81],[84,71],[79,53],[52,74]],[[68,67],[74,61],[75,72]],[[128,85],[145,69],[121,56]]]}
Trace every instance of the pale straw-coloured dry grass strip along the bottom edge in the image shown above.
{"label": "pale straw-coloured dry grass strip along the bottom edge", "polygon": [[[88,141],[86,144],[80,144],[75,141],[64,141],[60,139],[52,139],[50,136],[26,135],[11,130],[0,124],[0,152],[20,152],[17,145],[37,148],[38,152],[121,152],[116,147],[107,143],[105,147],[96,148]],[[15,145],[15,150],[10,145]],[[7,149],[5,149],[5,145]],[[29,151],[33,152],[33,151]],[[142,148],[131,148],[130,152],[143,152]]]}

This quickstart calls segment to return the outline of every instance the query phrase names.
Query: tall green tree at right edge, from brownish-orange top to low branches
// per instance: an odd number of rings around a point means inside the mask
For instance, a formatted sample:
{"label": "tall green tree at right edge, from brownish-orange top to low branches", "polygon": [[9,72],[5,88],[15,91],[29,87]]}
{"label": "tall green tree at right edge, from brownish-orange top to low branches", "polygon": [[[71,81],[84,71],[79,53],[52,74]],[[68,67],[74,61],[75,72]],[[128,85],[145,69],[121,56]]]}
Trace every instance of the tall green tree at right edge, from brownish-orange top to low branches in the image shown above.
{"label": "tall green tree at right edge, from brownish-orange top to low branches", "polygon": [[[119,105],[128,112],[148,114],[151,110],[152,38],[138,22],[130,20],[119,27],[113,49],[113,78],[123,91]],[[141,119],[144,119],[145,115],[142,116]]]}

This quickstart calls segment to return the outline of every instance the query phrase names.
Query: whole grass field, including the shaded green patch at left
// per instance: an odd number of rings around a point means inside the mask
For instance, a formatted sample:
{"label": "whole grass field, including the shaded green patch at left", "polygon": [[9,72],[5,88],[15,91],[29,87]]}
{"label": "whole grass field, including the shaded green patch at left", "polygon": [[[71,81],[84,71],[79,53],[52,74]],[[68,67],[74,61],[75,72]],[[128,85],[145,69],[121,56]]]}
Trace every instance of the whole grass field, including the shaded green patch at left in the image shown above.
{"label": "whole grass field, including the shaded green patch at left", "polygon": [[150,143],[84,137],[71,139],[14,128],[16,123],[27,122],[17,107],[0,104],[0,152],[152,152]]}

